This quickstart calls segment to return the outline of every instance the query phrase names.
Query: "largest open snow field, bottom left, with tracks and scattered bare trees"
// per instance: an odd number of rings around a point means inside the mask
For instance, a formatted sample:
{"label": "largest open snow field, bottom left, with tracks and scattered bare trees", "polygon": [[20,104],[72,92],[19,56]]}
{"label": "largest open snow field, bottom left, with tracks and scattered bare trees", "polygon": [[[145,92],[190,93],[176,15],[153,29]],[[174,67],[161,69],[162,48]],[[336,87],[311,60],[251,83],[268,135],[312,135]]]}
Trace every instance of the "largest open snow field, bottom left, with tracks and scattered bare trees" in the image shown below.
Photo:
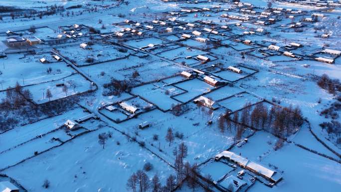
{"label": "largest open snow field, bottom left, with tracks and scattered bare trees", "polygon": [[152,178],[159,173],[162,185],[166,184],[166,178],[170,174],[174,175],[174,170],[165,162],[140,148],[138,144],[128,142],[121,134],[113,134],[102,149],[98,144],[98,134],[109,131],[112,132],[113,129],[105,127],[80,136],[61,147],[5,170],[5,174],[19,180],[30,192],[41,192],[41,183],[45,179],[50,181],[49,189],[54,191],[127,192],[124,184],[132,173],[142,170],[147,162],[154,166],[147,175]]}

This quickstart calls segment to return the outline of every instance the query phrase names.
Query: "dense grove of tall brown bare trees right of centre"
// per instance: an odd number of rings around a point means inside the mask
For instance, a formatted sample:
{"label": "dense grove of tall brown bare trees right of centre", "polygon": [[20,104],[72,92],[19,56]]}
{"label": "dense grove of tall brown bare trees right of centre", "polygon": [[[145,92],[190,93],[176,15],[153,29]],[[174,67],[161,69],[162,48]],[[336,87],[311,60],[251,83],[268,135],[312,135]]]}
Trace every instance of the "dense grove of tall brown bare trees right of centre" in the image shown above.
{"label": "dense grove of tall brown bare trees right of centre", "polygon": [[234,128],[235,139],[237,141],[241,139],[247,127],[265,129],[277,136],[283,137],[294,133],[302,123],[302,112],[298,106],[293,108],[290,105],[289,107],[282,108],[273,105],[268,108],[263,102],[254,106],[246,103],[241,111],[233,114],[232,119],[229,113],[220,115],[218,119],[220,132],[224,134],[227,129],[232,133],[232,128]]}

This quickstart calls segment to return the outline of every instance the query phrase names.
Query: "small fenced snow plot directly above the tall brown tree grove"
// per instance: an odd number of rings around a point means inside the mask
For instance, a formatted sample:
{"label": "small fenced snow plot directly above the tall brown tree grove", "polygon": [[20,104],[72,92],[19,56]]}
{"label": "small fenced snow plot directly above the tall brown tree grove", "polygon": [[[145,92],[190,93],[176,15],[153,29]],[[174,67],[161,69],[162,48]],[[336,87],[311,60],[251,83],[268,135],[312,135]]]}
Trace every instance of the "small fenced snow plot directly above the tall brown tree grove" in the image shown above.
{"label": "small fenced snow plot directly above the tall brown tree grove", "polygon": [[219,101],[219,105],[227,109],[230,109],[231,111],[236,111],[243,108],[243,106],[246,103],[254,104],[260,101],[261,101],[260,98],[255,97],[249,93],[241,93],[234,95],[233,97]]}

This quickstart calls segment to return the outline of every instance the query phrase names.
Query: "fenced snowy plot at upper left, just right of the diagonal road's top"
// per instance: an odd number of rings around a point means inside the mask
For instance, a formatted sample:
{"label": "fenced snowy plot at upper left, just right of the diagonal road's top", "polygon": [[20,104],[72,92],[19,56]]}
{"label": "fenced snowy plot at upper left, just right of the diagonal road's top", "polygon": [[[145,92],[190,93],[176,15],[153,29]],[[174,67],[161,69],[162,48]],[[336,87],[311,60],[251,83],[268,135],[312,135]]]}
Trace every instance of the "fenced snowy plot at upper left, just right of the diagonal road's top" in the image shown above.
{"label": "fenced snowy plot at upper left, just right of the diagonal road's top", "polygon": [[86,49],[79,47],[79,45],[75,45],[61,47],[57,50],[64,57],[72,59],[72,61],[78,66],[106,62],[113,59],[126,57],[132,53],[131,50],[109,44],[88,45]]}

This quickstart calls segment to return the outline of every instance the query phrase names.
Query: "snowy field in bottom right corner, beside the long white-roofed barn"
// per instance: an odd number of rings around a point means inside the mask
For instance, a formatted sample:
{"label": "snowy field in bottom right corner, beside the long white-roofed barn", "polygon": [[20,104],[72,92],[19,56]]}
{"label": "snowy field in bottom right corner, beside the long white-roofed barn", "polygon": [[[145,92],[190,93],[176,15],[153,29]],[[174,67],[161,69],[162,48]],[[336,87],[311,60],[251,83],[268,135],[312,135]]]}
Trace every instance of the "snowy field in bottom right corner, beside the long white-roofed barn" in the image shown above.
{"label": "snowy field in bottom right corner, beside the long white-roofed barn", "polygon": [[[248,156],[248,153],[254,150],[255,148],[252,147],[251,150],[245,151],[244,155]],[[275,188],[268,188],[257,183],[249,192],[327,192],[338,189],[341,185],[339,180],[341,177],[340,164],[301,149],[294,144],[285,144],[280,150],[266,156],[262,160],[262,164],[272,164],[283,170],[285,182]],[[297,177],[301,179],[298,180]]]}

